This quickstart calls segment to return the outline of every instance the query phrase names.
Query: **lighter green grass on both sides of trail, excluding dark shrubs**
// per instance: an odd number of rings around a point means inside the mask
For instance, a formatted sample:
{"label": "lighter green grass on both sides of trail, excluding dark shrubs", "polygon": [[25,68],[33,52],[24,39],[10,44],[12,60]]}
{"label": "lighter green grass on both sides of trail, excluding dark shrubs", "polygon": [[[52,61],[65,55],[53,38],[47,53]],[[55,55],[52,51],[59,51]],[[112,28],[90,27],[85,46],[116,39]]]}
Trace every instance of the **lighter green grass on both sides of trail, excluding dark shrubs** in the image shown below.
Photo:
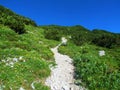
{"label": "lighter green grass on both sides of trail, excluding dark shrubs", "polygon": [[[44,29],[25,26],[25,34],[0,25],[0,89],[49,90],[44,81],[50,75],[49,65],[55,65],[50,48],[59,42],[47,40]],[[98,52],[105,50],[100,57]],[[120,48],[107,49],[95,45],[76,46],[68,41],[59,51],[73,58],[76,84],[89,90],[120,89]],[[18,61],[15,61],[15,60]],[[82,83],[80,83],[82,80]]]}

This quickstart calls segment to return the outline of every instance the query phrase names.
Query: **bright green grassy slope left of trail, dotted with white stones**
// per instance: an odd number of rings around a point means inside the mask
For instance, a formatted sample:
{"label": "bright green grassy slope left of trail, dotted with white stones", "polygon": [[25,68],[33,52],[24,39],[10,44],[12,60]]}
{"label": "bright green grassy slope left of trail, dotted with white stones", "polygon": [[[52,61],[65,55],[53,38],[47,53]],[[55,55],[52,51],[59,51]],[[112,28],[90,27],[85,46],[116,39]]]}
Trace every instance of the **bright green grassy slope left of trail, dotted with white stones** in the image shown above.
{"label": "bright green grassy slope left of trail, dotted with white stones", "polygon": [[0,25],[0,88],[31,90],[31,83],[40,81],[35,83],[36,90],[49,90],[44,80],[50,75],[49,64],[54,64],[50,48],[58,42],[45,39],[41,28],[26,26],[26,30],[18,35]]}

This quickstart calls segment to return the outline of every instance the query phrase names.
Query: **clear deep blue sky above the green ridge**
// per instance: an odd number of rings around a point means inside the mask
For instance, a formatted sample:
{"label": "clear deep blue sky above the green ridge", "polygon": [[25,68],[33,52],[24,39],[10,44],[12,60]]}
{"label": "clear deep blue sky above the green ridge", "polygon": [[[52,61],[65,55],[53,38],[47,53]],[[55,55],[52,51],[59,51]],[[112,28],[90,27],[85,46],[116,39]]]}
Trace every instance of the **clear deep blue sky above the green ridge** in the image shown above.
{"label": "clear deep blue sky above the green ridge", "polygon": [[120,33],[120,0],[0,0],[38,25],[82,25]]}

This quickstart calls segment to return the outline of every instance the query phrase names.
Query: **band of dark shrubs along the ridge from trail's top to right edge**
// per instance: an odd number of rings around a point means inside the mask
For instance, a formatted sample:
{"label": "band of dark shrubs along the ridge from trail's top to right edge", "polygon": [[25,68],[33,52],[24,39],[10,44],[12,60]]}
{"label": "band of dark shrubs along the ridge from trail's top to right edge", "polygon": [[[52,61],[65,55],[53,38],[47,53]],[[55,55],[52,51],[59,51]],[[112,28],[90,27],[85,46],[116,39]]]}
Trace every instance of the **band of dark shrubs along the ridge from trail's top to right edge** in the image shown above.
{"label": "band of dark shrubs along the ridge from trail's top to right edge", "polygon": [[59,41],[61,37],[71,37],[70,41],[80,46],[84,43],[95,44],[97,46],[114,48],[120,46],[120,34],[111,33],[105,30],[94,29],[90,31],[83,26],[40,26],[45,29],[45,38]]}

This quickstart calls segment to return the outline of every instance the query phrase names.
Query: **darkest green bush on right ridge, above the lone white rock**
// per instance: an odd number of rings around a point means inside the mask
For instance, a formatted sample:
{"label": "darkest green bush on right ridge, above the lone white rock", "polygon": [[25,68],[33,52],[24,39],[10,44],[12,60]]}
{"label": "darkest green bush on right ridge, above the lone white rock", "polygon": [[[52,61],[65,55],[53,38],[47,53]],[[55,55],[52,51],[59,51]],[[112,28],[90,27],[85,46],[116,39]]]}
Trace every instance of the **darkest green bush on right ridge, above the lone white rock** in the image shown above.
{"label": "darkest green bush on right ridge, above the lone white rock", "polygon": [[113,33],[103,31],[103,30],[94,30],[94,38],[92,42],[98,46],[111,48],[116,44],[116,36]]}

